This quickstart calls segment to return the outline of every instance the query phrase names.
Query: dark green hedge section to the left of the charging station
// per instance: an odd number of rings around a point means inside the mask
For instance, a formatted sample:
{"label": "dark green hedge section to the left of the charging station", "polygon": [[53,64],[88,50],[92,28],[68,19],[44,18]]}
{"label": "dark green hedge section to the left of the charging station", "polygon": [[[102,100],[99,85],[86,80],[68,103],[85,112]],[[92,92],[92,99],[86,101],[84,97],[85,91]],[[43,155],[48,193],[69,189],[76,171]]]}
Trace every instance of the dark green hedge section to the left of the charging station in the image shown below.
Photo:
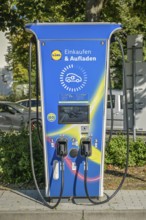
{"label": "dark green hedge section to the left of the charging station", "polygon": [[[34,165],[37,179],[43,181],[43,149],[34,131],[32,136]],[[27,130],[20,133],[0,133],[0,174],[2,182],[18,184],[32,182],[32,172],[29,152],[29,134]]]}

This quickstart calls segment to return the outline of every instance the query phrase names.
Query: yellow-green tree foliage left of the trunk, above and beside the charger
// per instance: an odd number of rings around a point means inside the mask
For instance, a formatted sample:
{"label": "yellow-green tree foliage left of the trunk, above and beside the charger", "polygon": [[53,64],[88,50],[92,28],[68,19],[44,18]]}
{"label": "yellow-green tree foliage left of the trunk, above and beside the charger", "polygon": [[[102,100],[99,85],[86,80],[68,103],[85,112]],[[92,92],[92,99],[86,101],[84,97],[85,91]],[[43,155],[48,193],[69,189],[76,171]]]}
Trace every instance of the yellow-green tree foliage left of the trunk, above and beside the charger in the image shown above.
{"label": "yellow-green tree foliage left of the trunk, above and beside the charger", "polygon": [[[0,30],[9,30],[12,48],[7,60],[13,69],[15,81],[28,81],[28,46],[30,34],[25,31],[25,24],[39,22],[81,21],[85,19],[85,0],[2,0],[0,5]],[[33,65],[33,72],[35,65]]]}

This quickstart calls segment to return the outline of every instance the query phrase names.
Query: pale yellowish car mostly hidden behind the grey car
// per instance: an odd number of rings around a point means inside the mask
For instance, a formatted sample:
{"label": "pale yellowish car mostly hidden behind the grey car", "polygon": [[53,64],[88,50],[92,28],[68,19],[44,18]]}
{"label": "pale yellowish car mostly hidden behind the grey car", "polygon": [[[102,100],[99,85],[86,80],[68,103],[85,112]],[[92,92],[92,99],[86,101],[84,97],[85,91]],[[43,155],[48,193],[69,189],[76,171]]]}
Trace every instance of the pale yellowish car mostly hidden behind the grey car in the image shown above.
{"label": "pale yellowish car mostly hidden behind the grey car", "polygon": [[[20,101],[17,101],[16,103],[29,108],[29,99],[20,100]],[[31,99],[31,109],[33,111],[36,111],[36,109],[37,109],[37,100],[36,99]],[[38,100],[38,110],[39,110],[39,112],[41,112],[41,101],[40,100]]]}

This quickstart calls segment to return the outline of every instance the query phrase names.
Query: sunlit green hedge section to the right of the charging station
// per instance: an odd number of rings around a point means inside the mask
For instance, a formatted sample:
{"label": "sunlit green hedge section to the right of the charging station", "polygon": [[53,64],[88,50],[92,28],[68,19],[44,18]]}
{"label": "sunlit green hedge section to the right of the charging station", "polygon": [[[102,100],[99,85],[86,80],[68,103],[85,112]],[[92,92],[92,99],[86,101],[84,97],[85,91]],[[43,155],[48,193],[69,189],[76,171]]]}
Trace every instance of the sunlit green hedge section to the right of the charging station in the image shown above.
{"label": "sunlit green hedge section to the right of the charging station", "polygon": [[[105,163],[123,168],[127,153],[125,136],[118,135],[112,138],[105,151]],[[146,143],[142,139],[129,143],[129,166],[143,166],[146,164]]]}

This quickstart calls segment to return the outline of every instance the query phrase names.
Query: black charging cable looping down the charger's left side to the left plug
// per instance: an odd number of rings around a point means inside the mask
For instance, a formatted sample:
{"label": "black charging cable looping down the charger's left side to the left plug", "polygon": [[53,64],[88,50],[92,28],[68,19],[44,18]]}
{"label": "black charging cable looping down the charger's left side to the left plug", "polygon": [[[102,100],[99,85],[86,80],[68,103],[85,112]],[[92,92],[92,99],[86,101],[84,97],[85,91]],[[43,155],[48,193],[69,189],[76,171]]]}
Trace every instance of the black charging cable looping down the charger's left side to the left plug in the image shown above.
{"label": "black charging cable looping down the charger's left side to the left plug", "polygon": [[43,205],[47,206],[50,209],[54,209],[56,208],[62,198],[62,194],[63,194],[63,189],[64,189],[64,161],[63,161],[63,156],[61,156],[61,189],[60,189],[60,194],[59,194],[59,198],[57,200],[57,202],[54,205],[50,205],[43,197],[40,188],[38,186],[38,182],[36,179],[36,175],[35,175],[35,169],[34,169],[34,157],[33,157],[33,146],[32,146],[32,127],[31,127],[31,68],[32,68],[32,45],[34,43],[34,38],[32,38],[30,40],[30,44],[29,44],[29,146],[30,146],[30,160],[31,160],[31,169],[32,169],[32,175],[33,175],[33,180],[35,183],[35,187],[38,191],[38,194],[40,195],[40,198],[42,199]]}

